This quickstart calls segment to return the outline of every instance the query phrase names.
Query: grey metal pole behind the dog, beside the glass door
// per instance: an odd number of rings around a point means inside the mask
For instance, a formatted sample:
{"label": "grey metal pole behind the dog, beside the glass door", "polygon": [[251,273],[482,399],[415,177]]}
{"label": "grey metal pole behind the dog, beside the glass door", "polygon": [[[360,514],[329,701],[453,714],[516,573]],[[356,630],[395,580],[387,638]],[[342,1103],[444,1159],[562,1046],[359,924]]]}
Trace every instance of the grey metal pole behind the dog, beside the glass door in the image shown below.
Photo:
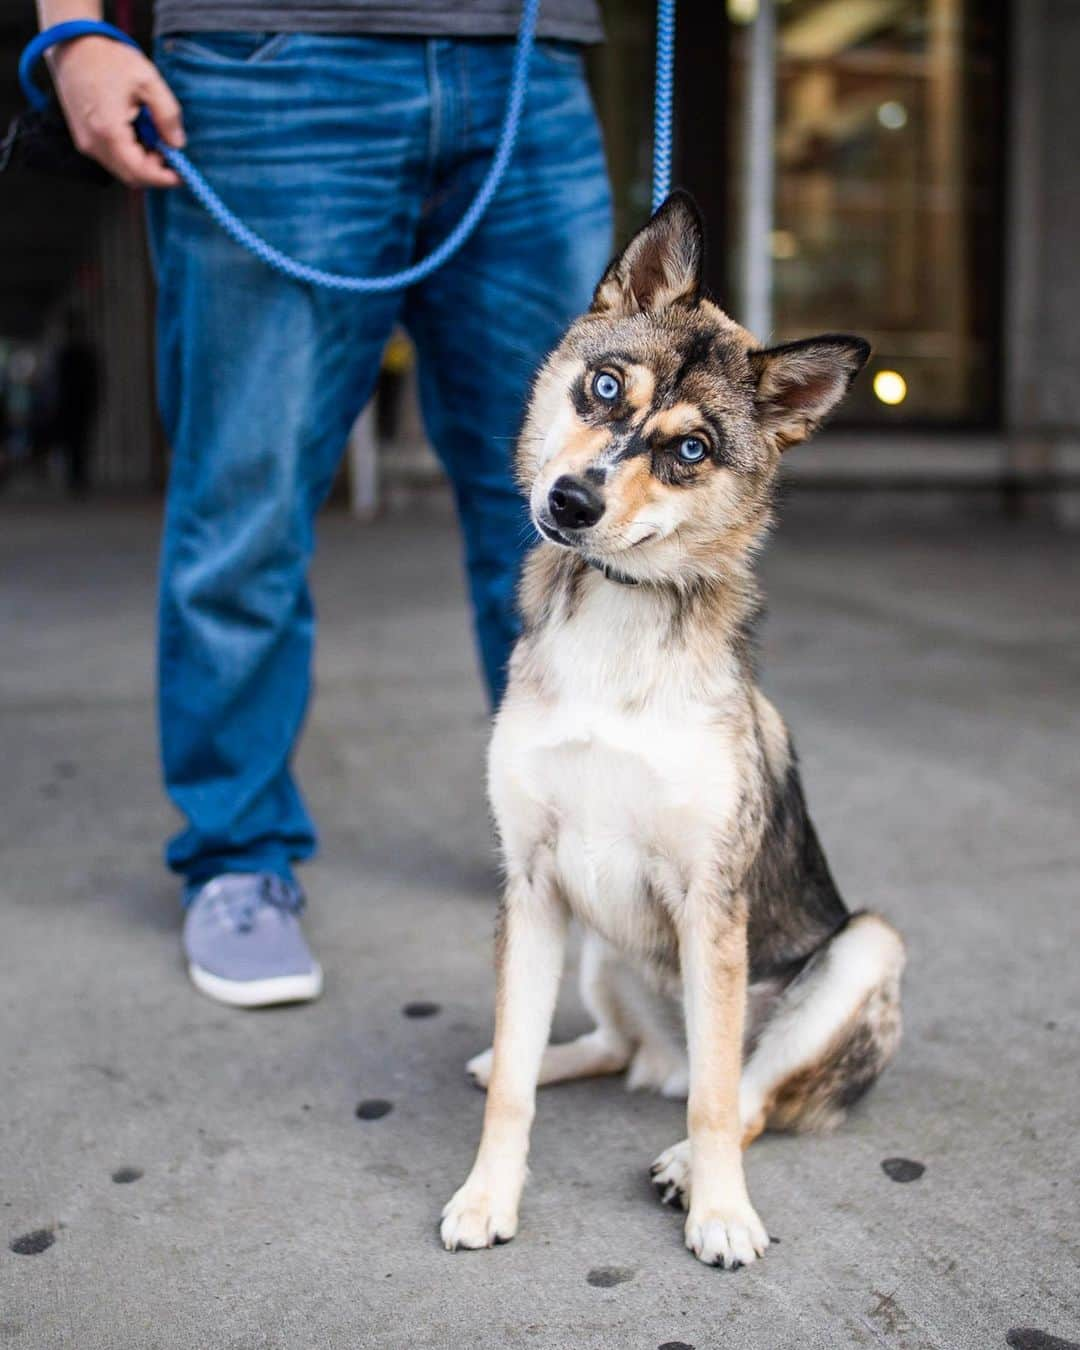
{"label": "grey metal pole behind the dog, beside the glass door", "polygon": [[776,4],[759,0],[749,34],[742,109],[742,323],[768,342],[772,332],[772,197],[776,127]]}

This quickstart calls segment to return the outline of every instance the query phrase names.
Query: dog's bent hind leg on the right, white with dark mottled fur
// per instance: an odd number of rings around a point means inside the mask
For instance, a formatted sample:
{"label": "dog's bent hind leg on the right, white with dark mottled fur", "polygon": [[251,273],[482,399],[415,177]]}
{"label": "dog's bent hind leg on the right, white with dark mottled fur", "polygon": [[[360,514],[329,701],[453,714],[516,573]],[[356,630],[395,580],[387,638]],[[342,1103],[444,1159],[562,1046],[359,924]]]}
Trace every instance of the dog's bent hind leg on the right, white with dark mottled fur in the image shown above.
{"label": "dog's bent hind leg on the right, white with dark mottled fur", "polygon": [[853,914],[788,984],[747,1060],[744,1146],[761,1130],[829,1130],[900,1040],[905,946],[878,914]]}

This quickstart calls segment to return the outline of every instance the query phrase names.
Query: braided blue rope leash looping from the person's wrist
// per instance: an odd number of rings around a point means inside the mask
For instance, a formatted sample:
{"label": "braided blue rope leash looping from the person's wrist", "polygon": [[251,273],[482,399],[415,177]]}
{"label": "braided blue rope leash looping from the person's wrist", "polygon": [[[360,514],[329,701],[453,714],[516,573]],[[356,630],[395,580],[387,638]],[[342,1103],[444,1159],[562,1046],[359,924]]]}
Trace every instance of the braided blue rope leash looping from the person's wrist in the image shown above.
{"label": "braided blue rope leash looping from the person's wrist", "polygon": [[[135,119],[135,132],[144,146],[157,150],[165,162],[176,170],[184,184],[217,224],[242,248],[247,248],[269,267],[292,277],[293,281],[306,282],[312,286],[323,286],[329,290],[344,290],[354,294],[373,294],[386,290],[400,290],[412,286],[417,281],[429,277],[444,262],[454,256],[462,244],[468,239],[479,224],[491,198],[500,189],[506,167],[514,153],[518,130],[521,127],[521,112],[525,105],[525,92],[528,88],[529,61],[536,42],[536,19],[540,11],[540,0],[522,0],[521,24],[517,32],[514,59],[510,69],[510,89],[506,96],[506,111],[502,117],[498,144],[491,158],[491,163],[483,181],[477,190],[477,196],[468,209],[447,235],[447,238],[423,258],[420,262],[405,267],[401,271],[390,273],[385,277],[350,277],[343,273],[324,271],[321,267],[312,267],[308,263],[289,258],[288,254],[274,248],[262,235],[255,234],[221,201],[215,189],[207,182],[202,174],[188,159],[182,150],[167,146],[154,126],[146,108]],[[72,19],[66,23],[54,24],[39,32],[26,47],[19,61],[19,81],[23,86],[31,107],[42,108],[47,103],[47,96],[34,82],[34,69],[40,57],[57,42],[69,42],[72,38],[88,35],[113,38],[127,46],[136,47],[138,43],[112,24],[100,23],[96,19]],[[675,0],[657,0],[656,9],[656,108],[652,153],[652,209],[656,211],[668,194],[671,186],[671,135],[672,135],[672,103],[674,103],[674,68],[675,68]]]}

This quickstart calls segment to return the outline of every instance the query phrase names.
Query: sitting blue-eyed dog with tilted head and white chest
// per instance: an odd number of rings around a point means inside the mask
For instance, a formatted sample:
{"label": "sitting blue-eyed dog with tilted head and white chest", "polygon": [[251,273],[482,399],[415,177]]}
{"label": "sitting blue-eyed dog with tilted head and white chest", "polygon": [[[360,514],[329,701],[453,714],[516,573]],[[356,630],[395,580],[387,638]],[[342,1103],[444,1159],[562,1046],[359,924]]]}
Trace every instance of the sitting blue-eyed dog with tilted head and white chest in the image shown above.
{"label": "sitting blue-eyed dog with tilted head and white chest", "polygon": [[[687,1247],[749,1265],[770,1239],[742,1150],[834,1126],[899,1042],[903,941],[846,910],[752,643],[780,456],[869,347],[760,348],[703,293],[702,262],[674,193],[547,359],[520,436],[543,540],[490,744],[495,1035],[468,1064],[487,1102],[443,1211],[450,1250],[514,1237],[537,1085],[626,1069],[688,1099],[687,1138],[652,1166]],[[548,1045],[571,917],[595,1029]]]}

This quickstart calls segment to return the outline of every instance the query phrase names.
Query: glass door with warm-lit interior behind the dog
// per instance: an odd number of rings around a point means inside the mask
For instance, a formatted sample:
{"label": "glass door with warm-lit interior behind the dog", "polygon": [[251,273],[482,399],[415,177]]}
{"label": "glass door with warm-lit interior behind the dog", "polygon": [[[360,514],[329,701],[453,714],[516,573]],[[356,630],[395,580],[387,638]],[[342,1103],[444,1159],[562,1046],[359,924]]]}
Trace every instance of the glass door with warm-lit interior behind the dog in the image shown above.
{"label": "glass door with warm-lit interior behind the dog", "polygon": [[[775,4],[771,336],[841,329],[873,343],[848,421],[998,417],[1002,11]],[[742,109],[757,3],[729,0],[726,14],[728,200],[740,219],[755,171]]]}

